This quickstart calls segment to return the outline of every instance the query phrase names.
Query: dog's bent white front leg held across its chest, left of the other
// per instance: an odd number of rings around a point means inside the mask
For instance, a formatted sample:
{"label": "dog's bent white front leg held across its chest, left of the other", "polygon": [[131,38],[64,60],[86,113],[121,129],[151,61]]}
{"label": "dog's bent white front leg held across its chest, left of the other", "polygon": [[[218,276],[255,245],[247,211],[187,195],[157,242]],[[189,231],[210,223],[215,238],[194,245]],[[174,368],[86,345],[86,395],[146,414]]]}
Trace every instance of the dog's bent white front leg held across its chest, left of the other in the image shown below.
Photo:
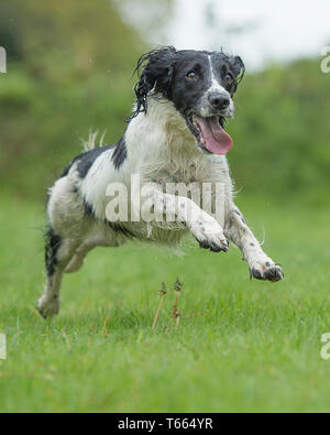
{"label": "dog's bent white front leg held across its chest, left of the other", "polygon": [[228,241],[220,224],[204,211],[191,199],[165,194],[151,188],[144,192],[147,202],[144,205],[144,217],[148,219],[145,209],[152,210],[153,220],[175,221],[188,228],[200,247],[212,252],[228,251]]}

